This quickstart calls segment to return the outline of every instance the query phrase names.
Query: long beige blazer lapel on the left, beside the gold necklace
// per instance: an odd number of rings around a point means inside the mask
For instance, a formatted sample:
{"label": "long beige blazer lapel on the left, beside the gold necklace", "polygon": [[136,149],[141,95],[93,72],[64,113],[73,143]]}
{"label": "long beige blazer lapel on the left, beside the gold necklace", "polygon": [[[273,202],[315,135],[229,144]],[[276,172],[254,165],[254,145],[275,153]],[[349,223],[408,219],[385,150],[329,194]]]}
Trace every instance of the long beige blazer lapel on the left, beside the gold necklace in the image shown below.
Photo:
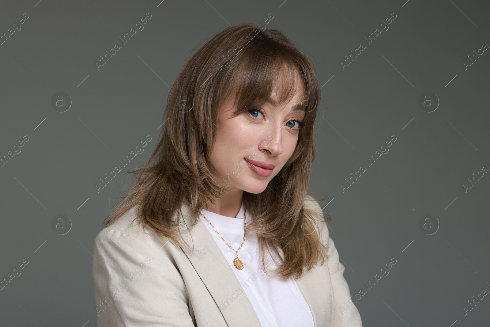
{"label": "long beige blazer lapel on the left, beside the gold necklace", "polygon": [[[182,206],[182,215],[191,226],[189,202]],[[182,225],[181,225],[182,226]],[[195,251],[186,253],[197,274],[221,310],[229,327],[261,327],[252,304],[228,262],[200,219],[189,232],[184,232],[186,242]]]}

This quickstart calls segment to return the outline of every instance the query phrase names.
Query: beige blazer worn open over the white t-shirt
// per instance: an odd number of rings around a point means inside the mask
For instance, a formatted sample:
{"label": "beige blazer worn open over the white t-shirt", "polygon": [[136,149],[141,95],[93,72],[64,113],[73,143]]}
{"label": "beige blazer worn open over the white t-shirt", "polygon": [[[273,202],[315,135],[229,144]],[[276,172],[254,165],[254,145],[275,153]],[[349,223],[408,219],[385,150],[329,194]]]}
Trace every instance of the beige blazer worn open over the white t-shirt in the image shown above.
{"label": "beige blazer worn open over the white t-shirt", "polygon": [[[362,327],[319,203],[305,205],[317,210],[322,242],[329,247],[325,264],[296,279],[315,327]],[[188,209],[186,201],[181,226],[183,219],[191,226]],[[133,222],[135,210],[102,229],[95,240],[98,327],[261,327],[242,284],[200,219],[182,232],[188,244],[194,243],[191,255],[144,232]]]}

